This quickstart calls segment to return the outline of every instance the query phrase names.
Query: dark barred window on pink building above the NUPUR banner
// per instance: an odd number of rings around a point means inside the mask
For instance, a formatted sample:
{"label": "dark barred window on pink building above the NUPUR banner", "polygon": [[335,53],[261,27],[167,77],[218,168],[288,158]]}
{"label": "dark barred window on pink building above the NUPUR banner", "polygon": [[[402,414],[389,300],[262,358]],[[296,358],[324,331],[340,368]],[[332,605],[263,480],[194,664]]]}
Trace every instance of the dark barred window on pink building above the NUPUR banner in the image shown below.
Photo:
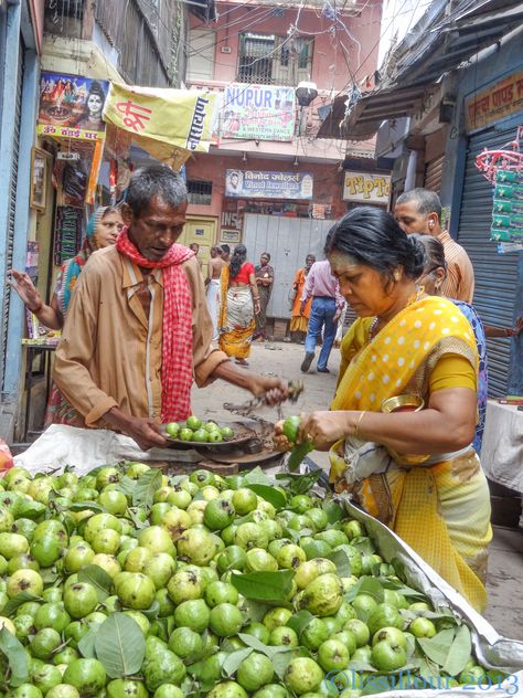
{"label": "dark barred window on pink building above the NUPUR banner", "polygon": [[297,85],[310,80],[312,40],[244,32],[239,35],[237,81]]}

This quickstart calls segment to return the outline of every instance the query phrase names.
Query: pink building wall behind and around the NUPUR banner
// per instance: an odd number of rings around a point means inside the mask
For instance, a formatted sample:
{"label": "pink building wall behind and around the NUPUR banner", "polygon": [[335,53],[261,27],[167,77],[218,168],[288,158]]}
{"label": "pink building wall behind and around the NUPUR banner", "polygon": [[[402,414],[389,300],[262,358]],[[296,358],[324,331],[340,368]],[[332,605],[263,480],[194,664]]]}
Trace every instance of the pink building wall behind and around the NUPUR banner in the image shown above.
{"label": "pink building wall behind and around the NUPUR banner", "polygon": [[[349,13],[344,12],[342,21],[337,22],[323,17],[320,10],[317,13],[303,8],[299,12],[299,2],[293,4],[293,8],[284,7],[284,17],[278,18],[270,15],[274,8],[256,6],[255,0],[241,6],[217,0],[216,8],[221,15],[217,22],[205,24],[195,18],[191,19],[191,28],[215,31],[212,78],[204,82],[188,81],[194,87],[223,89],[225,85],[236,82],[242,32],[286,36],[288,29],[293,25],[298,29],[297,36],[314,39],[310,80],[317,84],[319,96],[306,109],[307,130],[303,137],[295,137],[289,142],[222,138],[218,147],[212,147],[209,155],[195,155],[185,165],[188,179],[213,183],[211,204],[190,204],[188,213],[193,216],[215,216],[218,221],[216,241],[220,240],[222,212],[234,201],[225,199],[227,169],[296,171],[293,161],[298,155],[299,171],[313,174],[312,201],[330,204],[333,220],[346,211],[346,203],[341,199],[343,172],[339,168],[344,158],[345,144],[314,138],[319,126],[318,107],[330,104],[340,92],[350,92],[353,81],[360,83],[375,71],[382,0],[370,0],[355,17],[348,17]],[[345,7],[349,8],[349,3]],[[222,47],[231,51],[222,53]],[[243,151],[247,152],[247,161],[242,157]],[[311,162],[311,159],[314,161]],[[306,205],[306,202],[301,204]]]}

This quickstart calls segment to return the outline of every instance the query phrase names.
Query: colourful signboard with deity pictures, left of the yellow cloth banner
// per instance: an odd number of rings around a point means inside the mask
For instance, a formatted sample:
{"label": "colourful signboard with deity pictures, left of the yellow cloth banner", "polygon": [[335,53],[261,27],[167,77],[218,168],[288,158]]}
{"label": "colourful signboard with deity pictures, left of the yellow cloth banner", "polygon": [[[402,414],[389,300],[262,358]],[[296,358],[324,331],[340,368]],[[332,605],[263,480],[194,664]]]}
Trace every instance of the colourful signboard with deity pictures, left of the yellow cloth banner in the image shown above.
{"label": "colourful signboard with deity pictures, left of the yellow cloth banner", "polygon": [[103,138],[102,113],[108,91],[105,80],[43,72],[38,133],[93,142]]}

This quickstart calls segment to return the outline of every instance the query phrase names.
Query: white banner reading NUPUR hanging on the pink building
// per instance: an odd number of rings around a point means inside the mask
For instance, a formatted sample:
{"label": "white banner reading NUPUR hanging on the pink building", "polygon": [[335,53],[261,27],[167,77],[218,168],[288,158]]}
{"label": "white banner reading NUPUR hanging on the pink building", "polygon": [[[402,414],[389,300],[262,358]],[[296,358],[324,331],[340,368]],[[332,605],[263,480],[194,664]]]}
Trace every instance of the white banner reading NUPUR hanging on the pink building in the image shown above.
{"label": "white banner reading NUPUR hanging on the pink building", "polygon": [[220,110],[223,138],[292,140],[295,88],[233,84],[225,87]]}

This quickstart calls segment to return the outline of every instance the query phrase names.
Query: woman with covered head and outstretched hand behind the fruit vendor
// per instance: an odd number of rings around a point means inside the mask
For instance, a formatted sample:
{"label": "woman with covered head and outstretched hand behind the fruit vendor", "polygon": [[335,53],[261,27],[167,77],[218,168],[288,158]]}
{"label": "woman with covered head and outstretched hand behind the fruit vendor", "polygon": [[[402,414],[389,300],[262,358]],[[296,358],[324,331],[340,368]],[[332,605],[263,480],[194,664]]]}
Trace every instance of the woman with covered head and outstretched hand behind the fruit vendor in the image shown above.
{"label": "woman with covered head and outstretched hand behind the fruit vendor", "polygon": [[[67,316],[73,292],[82,271],[97,250],[104,250],[114,245],[124,228],[124,220],[119,209],[114,207],[99,207],[87,223],[85,242],[75,257],[67,260],[62,265],[56,286],[50,305],[40,297],[28,274],[11,269],[14,282],[10,282],[19,294],[25,307],[34,313],[39,321],[50,329],[62,329]],[[79,426],[78,415],[70,402],[64,398],[57,387],[51,385],[47,405],[45,409],[44,426],[51,424],[70,424]]]}

